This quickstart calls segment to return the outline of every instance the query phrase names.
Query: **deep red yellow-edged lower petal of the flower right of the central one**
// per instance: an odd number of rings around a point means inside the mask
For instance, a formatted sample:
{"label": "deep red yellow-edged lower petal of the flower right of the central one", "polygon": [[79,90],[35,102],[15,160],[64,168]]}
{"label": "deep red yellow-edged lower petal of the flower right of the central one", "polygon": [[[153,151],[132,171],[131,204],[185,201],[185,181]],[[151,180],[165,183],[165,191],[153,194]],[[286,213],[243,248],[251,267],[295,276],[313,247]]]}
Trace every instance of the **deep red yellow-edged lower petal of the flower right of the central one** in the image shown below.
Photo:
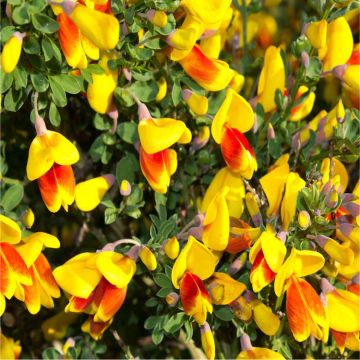
{"label": "deep red yellow-edged lower petal of the flower right of the central one", "polygon": [[227,166],[245,178],[251,178],[257,164],[254,150],[243,133],[225,125],[221,153]]}

